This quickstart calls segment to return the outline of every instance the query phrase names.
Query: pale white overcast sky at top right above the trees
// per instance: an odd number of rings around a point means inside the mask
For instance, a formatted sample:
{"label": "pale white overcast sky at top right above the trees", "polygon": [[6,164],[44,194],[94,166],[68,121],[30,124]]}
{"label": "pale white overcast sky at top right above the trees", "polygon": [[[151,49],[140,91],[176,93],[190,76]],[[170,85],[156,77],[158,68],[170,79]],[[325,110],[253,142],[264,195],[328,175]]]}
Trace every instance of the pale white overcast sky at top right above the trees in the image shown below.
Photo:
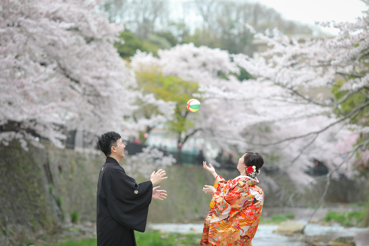
{"label": "pale white overcast sky at top right above the trees", "polygon": [[[368,6],[360,0],[252,0],[275,8],[287,20],[301,21],[315,25],[315,21],[354,22],[362,16]],[[338,31],[334,28],[324,28],[332,34]]]}

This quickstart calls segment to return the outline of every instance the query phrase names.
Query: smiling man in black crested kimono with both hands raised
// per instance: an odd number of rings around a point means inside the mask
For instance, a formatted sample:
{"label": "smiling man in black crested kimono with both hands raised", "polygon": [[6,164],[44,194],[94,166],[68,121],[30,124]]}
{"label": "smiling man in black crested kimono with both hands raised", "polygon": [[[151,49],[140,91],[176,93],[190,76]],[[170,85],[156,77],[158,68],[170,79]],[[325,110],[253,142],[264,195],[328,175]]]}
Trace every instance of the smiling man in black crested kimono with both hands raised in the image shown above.
{"label": "smiling man in black crested kimono with both hands raised", "polygon": [[159,169],[149,181],[137,184],[125,174],[119,164],[125,145],[116,132],[102,134],[99,146],[106,162],[97,183],[97,246],[136,246],[134,231],[145,231],[151,199],[166,198],[165,190],[153,186],[168,177]]}

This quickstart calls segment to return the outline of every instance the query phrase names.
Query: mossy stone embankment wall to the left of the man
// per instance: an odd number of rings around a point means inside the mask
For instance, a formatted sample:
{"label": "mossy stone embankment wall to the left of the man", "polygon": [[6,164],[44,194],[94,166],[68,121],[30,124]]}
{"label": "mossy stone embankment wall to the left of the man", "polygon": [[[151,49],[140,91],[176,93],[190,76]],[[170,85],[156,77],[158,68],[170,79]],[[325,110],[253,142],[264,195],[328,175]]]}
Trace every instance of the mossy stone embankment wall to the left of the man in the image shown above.
{"label": "mossy stone embankment wall to the left of the man", "polygon": [[0,245],[32,239],[71,221],[96,218],[97,176],[103,156],[18,143],[0,145]]}

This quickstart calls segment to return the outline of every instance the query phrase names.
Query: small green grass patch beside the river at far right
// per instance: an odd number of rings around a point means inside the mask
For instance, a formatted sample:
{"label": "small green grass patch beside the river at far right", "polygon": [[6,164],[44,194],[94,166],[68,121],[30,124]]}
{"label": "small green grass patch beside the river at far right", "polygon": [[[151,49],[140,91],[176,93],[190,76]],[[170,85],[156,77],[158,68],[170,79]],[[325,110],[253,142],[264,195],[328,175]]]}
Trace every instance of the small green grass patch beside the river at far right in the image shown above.
{"label": "small green grass patch beside the river at far right", "polygon": [[328,212],[324,221],[337,222],[342,226],[362,226],[366,210],[352,212]]}

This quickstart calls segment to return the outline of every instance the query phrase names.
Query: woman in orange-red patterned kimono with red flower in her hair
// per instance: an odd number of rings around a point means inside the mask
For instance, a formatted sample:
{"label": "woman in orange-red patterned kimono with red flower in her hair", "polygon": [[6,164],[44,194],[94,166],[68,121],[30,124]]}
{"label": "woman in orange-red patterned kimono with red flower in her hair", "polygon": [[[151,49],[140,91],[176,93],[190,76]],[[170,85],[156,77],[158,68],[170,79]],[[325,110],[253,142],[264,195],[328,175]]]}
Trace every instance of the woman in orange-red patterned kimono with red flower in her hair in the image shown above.
{"label": "woman in orange-red patterned kimono with red flower in her hair", "polygon": [[213,174],[214,186],[205,185],[203,191],[213,194],[209,214],[205,219],[200,245],[252,246],[258,228],[264,193],[256,186],[264,160],[259,153],[246,151],[239,158],[237,169],[240,176],[226,181],[213,166],[203,162],[204,168]]}

